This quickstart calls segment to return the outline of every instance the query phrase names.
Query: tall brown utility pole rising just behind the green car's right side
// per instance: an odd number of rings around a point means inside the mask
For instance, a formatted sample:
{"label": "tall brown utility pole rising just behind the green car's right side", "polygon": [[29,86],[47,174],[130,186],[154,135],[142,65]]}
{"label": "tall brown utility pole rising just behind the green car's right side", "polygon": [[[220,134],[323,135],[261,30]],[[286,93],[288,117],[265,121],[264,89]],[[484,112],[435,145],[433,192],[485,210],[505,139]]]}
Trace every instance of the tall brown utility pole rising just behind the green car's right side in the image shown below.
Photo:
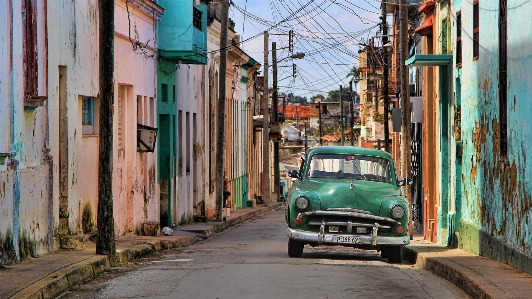
{"label": "tall brown utility pole rising just behind the green car's right side", "polygon": [[[408,49],[408,0],[401,0],[399,4],[399,75],[401,82],[401,173],[403,178],[411,178],[411,137],[410,137],[410,86],[408,73],[405,66]],[[410,222],[412,223],[412,193],[411,186],[404,187],[405,196],[410,209]],[[412,225],[409,225],[410,239],[412,239]]]}

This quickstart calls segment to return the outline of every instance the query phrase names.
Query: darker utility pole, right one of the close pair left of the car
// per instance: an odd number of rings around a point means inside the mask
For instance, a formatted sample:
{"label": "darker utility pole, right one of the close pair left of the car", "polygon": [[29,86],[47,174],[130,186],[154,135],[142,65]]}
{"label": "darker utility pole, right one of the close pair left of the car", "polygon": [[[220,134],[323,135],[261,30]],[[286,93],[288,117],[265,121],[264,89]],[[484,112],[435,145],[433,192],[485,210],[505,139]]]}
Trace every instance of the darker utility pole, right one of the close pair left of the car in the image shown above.
{"label": "darker utility pole, right one of the close pair left of the car", "polygon": [[[272,122],[275,126],[279,125],[279,98],[277,93],[277,43],[272,42],[272,64],[273,64],[273,95],[272,95]],[[279,201],[279,140],[273,140],[273,193],[274,202]]]}

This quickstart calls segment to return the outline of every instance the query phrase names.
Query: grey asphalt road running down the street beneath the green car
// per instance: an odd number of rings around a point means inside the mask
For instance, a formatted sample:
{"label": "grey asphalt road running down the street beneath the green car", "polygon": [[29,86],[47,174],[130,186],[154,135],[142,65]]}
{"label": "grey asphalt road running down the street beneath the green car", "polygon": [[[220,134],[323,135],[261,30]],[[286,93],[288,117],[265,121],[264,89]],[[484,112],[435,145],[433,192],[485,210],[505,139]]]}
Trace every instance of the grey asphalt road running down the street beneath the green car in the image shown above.
{"label": "grey asphalt road running down the street beneath the green car", "polygon": [[284,211],[273,211],[115,268],[60,298],[470,298],[376,251],[305,246],[302,258],[290,258],[287,240]]}

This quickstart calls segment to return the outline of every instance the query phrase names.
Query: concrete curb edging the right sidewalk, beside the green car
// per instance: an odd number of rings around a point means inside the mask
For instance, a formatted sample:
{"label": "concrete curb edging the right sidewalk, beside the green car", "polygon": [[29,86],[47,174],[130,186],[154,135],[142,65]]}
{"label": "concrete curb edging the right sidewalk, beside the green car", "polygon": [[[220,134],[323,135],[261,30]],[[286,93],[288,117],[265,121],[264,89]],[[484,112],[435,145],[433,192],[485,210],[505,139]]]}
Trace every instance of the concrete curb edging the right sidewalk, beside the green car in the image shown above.
{"label": "concrete curb edging the right sidewalk, beside the green car", "polygon": [[509,298],[506,293],[496,288],[484,277],[454,263],[445,257],[434,257],[431,253],[418,252],[408,246],[403,247],[403,257],[416,267],[431,271],[467,292],[473,298]]}

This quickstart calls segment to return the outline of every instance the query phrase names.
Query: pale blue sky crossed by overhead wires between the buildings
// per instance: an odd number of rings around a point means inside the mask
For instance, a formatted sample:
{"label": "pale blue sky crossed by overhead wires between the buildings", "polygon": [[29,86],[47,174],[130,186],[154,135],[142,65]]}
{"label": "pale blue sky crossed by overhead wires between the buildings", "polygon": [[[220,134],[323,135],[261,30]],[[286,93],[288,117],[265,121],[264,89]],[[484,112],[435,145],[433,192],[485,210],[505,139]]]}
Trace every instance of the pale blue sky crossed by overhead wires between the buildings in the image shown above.
{"label": "pale blue sky crossed by overhead wires between the buildings", "polygon": [[[271,42],[277,43],[280,61],[291,55],[288,32],[293,30],[293,53],[306,55],[278,64],[279,91],[311,98],[317,94],[327,96],[340,85],[349,87],[350,78],[346,76],[353,66],[358,66],[358,50],[363,48],[360,44],[368,43],[379,30],[380,5],[381,1],[376,0],[232,0],[229,17],[241,35],[240,48],[261,65],[262,33],[269,32],[270,51]],[[272,86],[271,52],[268,57],[268,81]],[[296,64],[295,78],[292,63]]]}

